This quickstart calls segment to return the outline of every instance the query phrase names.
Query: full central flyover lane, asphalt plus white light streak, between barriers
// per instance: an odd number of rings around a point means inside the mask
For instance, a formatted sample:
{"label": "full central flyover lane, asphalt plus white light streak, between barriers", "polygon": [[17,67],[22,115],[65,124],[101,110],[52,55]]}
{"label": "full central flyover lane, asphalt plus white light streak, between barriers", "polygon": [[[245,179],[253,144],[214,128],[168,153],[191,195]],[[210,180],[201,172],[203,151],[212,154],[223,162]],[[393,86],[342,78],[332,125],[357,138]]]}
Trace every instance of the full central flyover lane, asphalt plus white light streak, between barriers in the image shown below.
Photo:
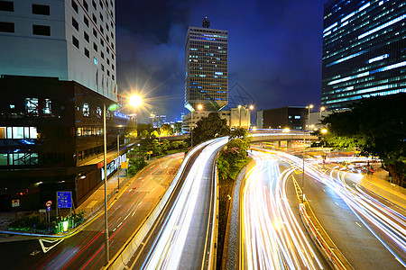
{"label": "full central flyover lane, asphalt plus white light streak, between barriers", "polygon": [[199,145],[131,269],[207,269],[215,182],[213,164],[226,138]]}

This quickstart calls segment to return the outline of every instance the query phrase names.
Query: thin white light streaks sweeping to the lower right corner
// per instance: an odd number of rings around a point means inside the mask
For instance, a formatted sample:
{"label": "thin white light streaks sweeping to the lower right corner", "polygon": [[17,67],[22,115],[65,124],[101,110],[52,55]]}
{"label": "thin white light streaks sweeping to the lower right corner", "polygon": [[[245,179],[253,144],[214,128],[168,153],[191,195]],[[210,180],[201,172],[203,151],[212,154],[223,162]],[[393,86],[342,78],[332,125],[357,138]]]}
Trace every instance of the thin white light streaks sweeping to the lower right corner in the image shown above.
{"label": "thin white light streaks sweeping to the lower right corner", "polygon": [[[272,153],[273,157],[288,162],[291,166],[301,170],[303,162],[301,157],[280,151],[267,151]],[[307,160],[309,162],[306,162],[306,175],[326,184],[334,193],[337,193],[355,213],[355,216],[364,223],[364,226],[374,234],[403,267],[406,267],[406,217],[381,202],[380,200],[383,200],[381,197],[365,193],[357,184],[355,184],[355,189],[346,184],[346,172],[341,169],[332,170],[329,175],[326,175],[318,166],[314,165],[314,160]],[[334,177],[335,173],[337,177]]]}

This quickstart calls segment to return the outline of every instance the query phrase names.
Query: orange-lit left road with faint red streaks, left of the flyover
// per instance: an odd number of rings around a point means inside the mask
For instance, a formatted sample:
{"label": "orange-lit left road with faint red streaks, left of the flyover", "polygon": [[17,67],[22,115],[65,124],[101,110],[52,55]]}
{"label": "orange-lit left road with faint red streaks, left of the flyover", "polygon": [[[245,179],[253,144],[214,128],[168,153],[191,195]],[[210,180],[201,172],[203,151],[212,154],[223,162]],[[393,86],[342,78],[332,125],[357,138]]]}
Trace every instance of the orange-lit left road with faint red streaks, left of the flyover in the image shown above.
{"label": "orange-lit left road with faint red streaks, left of the flyover", "polygon": [[[114,257],[159,202],[183,156],[180,153],[164,157],[158,164],[147,167],[109,205],[110,257]],[[47,247],[52,248],[47,250]],[[49,238],[3,242],[0,248],[2,266],[6,269],[100,269],[104,266],[104,215],[99,215],[68,238],[55,242],[50,242]]]}

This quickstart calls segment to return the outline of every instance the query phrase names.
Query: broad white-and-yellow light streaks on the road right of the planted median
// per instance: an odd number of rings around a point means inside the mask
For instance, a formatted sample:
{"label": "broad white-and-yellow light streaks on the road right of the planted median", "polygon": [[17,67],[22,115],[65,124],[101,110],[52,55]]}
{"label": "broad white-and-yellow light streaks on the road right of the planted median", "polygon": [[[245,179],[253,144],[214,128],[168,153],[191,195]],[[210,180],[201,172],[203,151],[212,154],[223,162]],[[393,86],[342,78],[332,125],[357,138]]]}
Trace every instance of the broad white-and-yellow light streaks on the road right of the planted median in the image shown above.
{"label": "broad white-and-yellow light streaks on the road right of the planted median", "polygon": [[323,269],[300,229],[286,197],[286,181],[294,170],[280,173],[277,160],[254,151],[254,168],[242,191],[240,268]]}

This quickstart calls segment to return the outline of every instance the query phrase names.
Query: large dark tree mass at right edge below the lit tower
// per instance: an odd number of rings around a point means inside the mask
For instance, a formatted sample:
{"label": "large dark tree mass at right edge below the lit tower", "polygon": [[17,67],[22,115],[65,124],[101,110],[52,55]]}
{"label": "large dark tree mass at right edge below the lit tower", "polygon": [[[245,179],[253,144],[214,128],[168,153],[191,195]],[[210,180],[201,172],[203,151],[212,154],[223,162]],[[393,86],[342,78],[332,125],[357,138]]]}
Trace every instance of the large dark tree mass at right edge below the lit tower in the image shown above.
{"label": "large dark tree mass at right edge below the lit tower", "polygon": [[393,183],[403,185],[406,176],[406,94],[370,97],[355,103],[352,111],[328,115],[325,139],[336,148],[362,148],[378,156],[392,175]]}

